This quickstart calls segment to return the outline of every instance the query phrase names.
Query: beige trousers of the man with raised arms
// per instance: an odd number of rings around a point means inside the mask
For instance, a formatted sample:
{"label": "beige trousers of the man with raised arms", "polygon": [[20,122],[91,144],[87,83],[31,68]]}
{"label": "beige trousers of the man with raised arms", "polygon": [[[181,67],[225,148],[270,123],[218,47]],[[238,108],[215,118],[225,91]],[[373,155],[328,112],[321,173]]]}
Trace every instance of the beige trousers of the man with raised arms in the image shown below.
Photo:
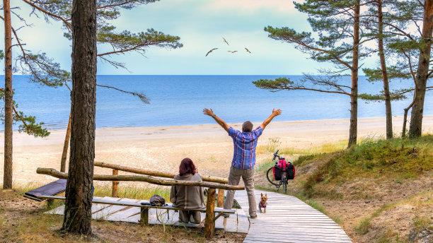
{"label": "beige trousers of the man with raised arms", "polygon": [[[230,168],[229,174],[229,184],[230,185],[238,185],[239,181],[243,180],[243,184],[245,184],[245,189],[248,195],[248,204],[250,205],[249,213],[250,216],[257,215],[257,206],[255,204],[255,196],[254,196],[254,169],[250,170],[241,170],[236,169],[235,167]],[[233,207],[233,198],[235,191],[228,190],[226,194],[226,201],[224,202],[224,208],[231,209]]]}

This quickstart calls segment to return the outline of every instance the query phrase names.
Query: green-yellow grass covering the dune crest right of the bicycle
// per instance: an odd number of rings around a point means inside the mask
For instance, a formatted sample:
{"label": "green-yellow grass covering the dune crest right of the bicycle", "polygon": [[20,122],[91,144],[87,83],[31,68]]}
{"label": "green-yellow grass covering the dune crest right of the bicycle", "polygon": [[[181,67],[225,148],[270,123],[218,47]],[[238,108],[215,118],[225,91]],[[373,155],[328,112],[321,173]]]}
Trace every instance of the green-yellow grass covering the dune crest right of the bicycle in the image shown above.
{"label": "green-yellow grass covering the dune crest right of the bicycle", "polygon": [[[317,193],[316,184],[344,183],[354,178],[392,178],[396,183],[417,177],[423,172],[433,170],[433,136],[427,135],[415,140],[393,138],[373,141],[366,139],[359,145],[347,150],[328,154],[321,167],[306,180],[305,194]],[[324,155],[311,155],[305,160],[319,160]]]}

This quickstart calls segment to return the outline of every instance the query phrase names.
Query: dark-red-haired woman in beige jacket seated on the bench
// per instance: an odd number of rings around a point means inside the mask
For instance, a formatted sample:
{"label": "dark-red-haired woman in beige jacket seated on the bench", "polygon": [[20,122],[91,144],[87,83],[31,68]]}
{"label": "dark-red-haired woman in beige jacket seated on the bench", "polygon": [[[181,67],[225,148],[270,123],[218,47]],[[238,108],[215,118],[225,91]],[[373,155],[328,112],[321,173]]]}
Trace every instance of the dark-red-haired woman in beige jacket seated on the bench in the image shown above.
{"label": "dark-red-haired woman in beige jacket seated on the bench", "polygon": [[[202,177],[190,158],[185,158],[180,162],[179,174],[174,179],[202,182]],[[204,208],[203,189],[200,186],[171,186],[170,201],[177,208]],[[200,212],[179,211],[179,221],[199,224],[201,222]]]}

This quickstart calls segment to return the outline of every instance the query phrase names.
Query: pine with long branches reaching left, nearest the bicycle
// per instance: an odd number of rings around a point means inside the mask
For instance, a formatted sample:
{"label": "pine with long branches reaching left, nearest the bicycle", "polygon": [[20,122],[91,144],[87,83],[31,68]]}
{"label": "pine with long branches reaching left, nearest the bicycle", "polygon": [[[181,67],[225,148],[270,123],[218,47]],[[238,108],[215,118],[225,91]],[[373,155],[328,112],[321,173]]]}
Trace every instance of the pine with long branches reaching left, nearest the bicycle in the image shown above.
{"label": "pine with long branches reaching left, nearest the bicycle", "polygon": [[[269,37],[296,45],[296,49],[309,54],[311,59],[334,64],[335,70],[319,70],[320,76],[304,74],[301,81],[289,78],[275,80],[262,79],[253,82],[258,88],[269,90],[311,90],[323,93],[336,93],[350,97],[350,131],[348,146],[357,143],[357,99],[359,59],[368,52],[362,44],[371,40],[360,32],[361,1],[321,1],[306,0],[294,3],[296,9],[308,14],[308,23],[314,32],[297,32],[284,27],[268,26]],[[350,73],[350,74],[347,74]],[[343,76],[351,77],[350,85],[342,82]]]}

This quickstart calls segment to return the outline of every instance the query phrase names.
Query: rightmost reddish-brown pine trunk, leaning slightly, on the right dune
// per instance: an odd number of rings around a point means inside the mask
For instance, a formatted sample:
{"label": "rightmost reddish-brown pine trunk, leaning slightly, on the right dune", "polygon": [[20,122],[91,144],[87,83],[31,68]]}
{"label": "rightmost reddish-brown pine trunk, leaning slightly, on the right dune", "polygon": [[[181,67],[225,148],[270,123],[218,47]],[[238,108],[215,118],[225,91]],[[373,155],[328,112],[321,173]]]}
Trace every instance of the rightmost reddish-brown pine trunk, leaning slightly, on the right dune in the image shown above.
{"label": "rightmost reddish-brown pine trunk, leaning slightly, on the right dune", "polygon": [[425,91],[429,73],[430,50],[432,47],[433,0],[426,0],[422,23],[422,46],[416,75],[416,92],[410,114],[409,137],[416,138],[422,133],[422,112],[424,111]]}

